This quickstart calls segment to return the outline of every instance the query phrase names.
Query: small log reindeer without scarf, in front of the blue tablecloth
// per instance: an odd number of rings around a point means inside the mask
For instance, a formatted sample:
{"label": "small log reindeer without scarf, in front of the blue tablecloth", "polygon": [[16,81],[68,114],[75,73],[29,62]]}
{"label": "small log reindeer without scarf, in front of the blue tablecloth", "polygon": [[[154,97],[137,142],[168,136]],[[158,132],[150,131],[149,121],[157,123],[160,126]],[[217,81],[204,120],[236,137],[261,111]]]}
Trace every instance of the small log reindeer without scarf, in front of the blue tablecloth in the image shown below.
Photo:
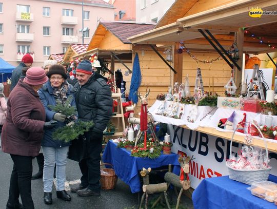
{"label": "small log reindeer without scarf, in front of the blue tablecloth", "polygon": [[168,209],[170,209],[170,205],[169,205],[167,195],[166,195],[166,191],[168,188],[167,183],[149,184],[149,173],[150,172],[151,172],[150,167],[148,169],[143,168],[141,170],[141,176],[143,177],[143,196],[142,196],[142,200],[141,200],[141,204],[140,204],[140,209],[142,208],[142,203],[144,201],[144,198],[145,198],[145,209],[147,209],[148,194],[155,194],[155,193],[164,193],[167,207],[168,207]]}

